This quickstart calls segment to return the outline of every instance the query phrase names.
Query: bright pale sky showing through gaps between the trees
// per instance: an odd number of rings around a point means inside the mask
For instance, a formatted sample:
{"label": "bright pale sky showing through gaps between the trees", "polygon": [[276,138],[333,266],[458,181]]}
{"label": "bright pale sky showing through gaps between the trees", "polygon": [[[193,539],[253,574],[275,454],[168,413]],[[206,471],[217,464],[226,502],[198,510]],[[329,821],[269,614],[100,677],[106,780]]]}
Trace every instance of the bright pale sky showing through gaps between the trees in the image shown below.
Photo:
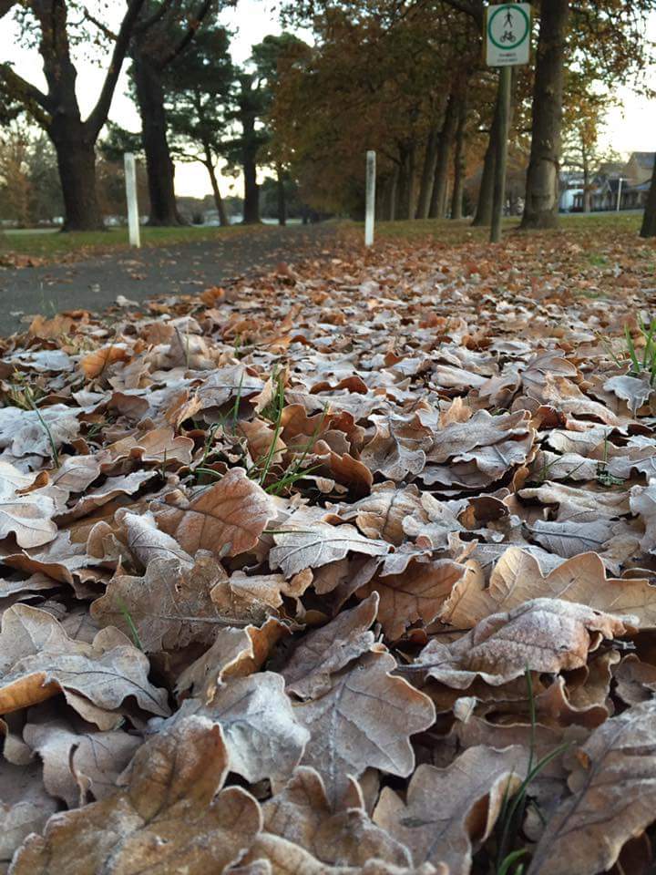
{"label": "bright pale sky showing through gaps between the trees", "polygon": [[[122,4],[113,0],[109,7],[121,9]],[[251,46],[261,42],[267,34],[280,31],[280,23],[274,11],[272,0],[239,0],[236,9],[224,11],[221,23],[233,32],[231,41],[232,57],[237,63],[243,63],[251,55]],[[13,28],[13,33],[11,32]],[[9,32],[7,32],[9,31]],[[308,34],[301,34],[306,40]],[[656,12],[651,13],[647,36],[656,41]],[[45,81],[41,71],[40,59],[35,51],[22,48],[17,26],[9,28],[4,23],[2,49],[5,57],[15,64],[15,69],[37,86],[44,87]],[[7,51],[8,46],[8,51]],[[83,112],[88,111],[97,98],[103,81],[104,71],[94,65],[84,51],[76,57],[78,68],[78,99]],[[656,68],[648,71],[647,80],[656,89]],[[125,66],[118,81],[118,87],[109,113],[109,118],[118,122],[124,128],[138,130],[139,120],[137,109],[126,96],[127,77]],[[654,118],[654,101],[634,93],[631,88],[620,86],[616,92],[618,106],[609,112],[606,127],[602,133],[601,144],[604,149],[613,149],[620,156],[628,158],[632,151],[656,150],[656,124]],[[363,147],[364,148],[364,147]],[[239,193],[241,181],[223,178],[221,188],[224,194]],[[198,163],[179,163],[176,165],[176,192],[179,196],[191,195],[203,197],[210,194],[210,183],[207,171]]]}

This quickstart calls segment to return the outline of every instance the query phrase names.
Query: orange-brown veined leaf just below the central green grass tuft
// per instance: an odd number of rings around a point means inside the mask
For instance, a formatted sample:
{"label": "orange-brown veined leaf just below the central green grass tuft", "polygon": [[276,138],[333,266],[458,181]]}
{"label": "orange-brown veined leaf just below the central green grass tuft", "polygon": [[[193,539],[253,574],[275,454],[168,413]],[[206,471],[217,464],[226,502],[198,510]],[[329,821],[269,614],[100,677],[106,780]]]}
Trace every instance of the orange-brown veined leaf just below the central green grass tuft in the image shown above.
{"label": "orange-brown veined leaf just below the central green grass tuft", "polygon": [[243,468],[232,468],[190,501],[171,506],[159,501],[154,510],[159,529],[192,556],[199,550],[223,556],[251,550],[275,516],[272,500]]}

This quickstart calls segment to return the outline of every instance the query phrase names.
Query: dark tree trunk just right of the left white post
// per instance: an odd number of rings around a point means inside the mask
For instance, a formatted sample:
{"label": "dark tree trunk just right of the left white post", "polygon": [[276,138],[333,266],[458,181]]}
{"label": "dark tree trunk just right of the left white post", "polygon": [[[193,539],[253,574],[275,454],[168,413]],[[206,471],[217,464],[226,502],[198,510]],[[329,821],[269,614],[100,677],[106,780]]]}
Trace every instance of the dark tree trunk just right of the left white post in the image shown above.
{"label": "dark tree trunk just right of the left white post", "polygon": [[173,161],[167,140],[164,87],[159,67],[149,57],[133,51],[132,77],[137,91],[141,137],[146,152],[150,198],[149,225],[179,225],[175,200]]}

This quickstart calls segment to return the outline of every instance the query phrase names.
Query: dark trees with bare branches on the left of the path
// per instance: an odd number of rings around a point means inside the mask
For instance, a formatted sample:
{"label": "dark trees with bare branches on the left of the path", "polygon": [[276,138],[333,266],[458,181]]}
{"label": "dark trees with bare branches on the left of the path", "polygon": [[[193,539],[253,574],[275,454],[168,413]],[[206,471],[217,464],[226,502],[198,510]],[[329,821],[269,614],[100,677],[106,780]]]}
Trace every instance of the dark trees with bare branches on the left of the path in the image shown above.
{"label": "dark trees with bare branches on the left of the path", "polygon": [[[182,220],[174,191],[174,159],[200,160],[210,175],[221,223],[228,216],[217,179],[220,159],[245,180],[245,222],[260,221],[257,166],[269,139],[277,56],[294,37],[267,37],[253,46],[253,62],[231,61],[230,35],[217,21],[234,0],[129,0],[118,26],[77,0],[0,0],[0,19],[13,13],[26,47],[43,62],[46,89],[0,62],[0,124],[26,116],[45,133],[56,166],[67,231],[103,227],[98,153],[117,159],[125,150],[143,155],[147,169],[149,223]],[[106,10],[107,11],[107,10]],[[106,16],[107,17],[107,16]],[[86,118],[78,101],[73,56],[80,42],[108,57],[97,101]],[[108,123],[121,67],[128,65],[129,92],[141,121],[138,134]],[[101,135],[102,132],[102,135]],[[284,221],[290,178],[278,172]]]}

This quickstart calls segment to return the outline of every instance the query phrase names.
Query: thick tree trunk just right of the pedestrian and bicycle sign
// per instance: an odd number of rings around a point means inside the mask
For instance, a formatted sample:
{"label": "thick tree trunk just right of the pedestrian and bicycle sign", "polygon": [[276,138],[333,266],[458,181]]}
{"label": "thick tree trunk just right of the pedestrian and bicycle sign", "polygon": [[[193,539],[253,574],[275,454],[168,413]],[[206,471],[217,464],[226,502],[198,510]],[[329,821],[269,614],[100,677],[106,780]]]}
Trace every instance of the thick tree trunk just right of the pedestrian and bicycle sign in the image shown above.
{"label": "thick tree trunk just right of the pedestrian and bicycle sign", "polygon": [[522,228],[555,228],[558,224],[560,130],[568,18],[569,0],[549,0],[542,5]]}

